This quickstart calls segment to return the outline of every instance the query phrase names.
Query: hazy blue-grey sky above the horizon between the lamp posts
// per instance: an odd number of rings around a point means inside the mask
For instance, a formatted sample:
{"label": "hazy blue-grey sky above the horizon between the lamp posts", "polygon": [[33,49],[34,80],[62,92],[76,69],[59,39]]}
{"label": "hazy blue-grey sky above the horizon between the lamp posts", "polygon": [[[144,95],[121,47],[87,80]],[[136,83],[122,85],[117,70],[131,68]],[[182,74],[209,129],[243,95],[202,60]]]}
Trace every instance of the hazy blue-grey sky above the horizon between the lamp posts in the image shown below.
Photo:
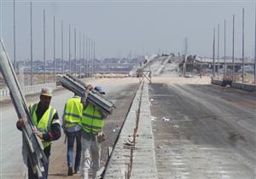
{"label": "hazy blue-grey sky above the horizon between the lamp posts", "polygon": [[[30,59],[30,1],[16,2],[16,58]],[[163,0],[163,1],[32,1],[33,59],[43,58],[43,10],[46,11],[46,58],[53,59],[53,16],[56,57],[61,56],[61,20],[64,23],[64,58],[68,58],[68,25],[96,42],[96,57],[127,57],[183,52],[212,56],[213,27],[220,24],[220,55],[224,55],[226,19],[227,55],[232,48],[232,15],[236,15],[236,56],[241,56],[241,9],[245,8],[245,55],[253,56],[255,1]],[[0,0],[1,38],[13,56],[13,0]],[[217,35],[217,34],[216,34]],[[83,36],[82,36],[83,37]],[[217,40],[217,39],[216,39]],[[83,39],[81,40],[83,44]],[[83,55],[83,51],[81,52]]]}

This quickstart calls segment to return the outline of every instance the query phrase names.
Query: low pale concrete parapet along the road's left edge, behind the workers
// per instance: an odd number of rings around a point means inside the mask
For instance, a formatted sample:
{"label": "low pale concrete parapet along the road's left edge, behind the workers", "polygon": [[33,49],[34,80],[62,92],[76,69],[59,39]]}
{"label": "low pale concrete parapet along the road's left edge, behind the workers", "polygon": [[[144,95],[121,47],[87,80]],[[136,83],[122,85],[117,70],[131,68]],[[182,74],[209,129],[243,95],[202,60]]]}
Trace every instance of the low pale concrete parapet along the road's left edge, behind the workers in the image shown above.
{"label": "low pale concrete parapet along the road's left edge, behind the workers", "polygon": [[[45,87],[50,87],[51,89],[55,90],[56,84],[48,83],[48,84],[29,85],[29,86],[25,86],[24,89],[22,89],[22,91],[24,92],[25,95],[32,95],[32,94],[39,93]],[[1,96],[0,101],[3,100],[2,97],[9,96],[9,89],[0,90],[0,96]]]}

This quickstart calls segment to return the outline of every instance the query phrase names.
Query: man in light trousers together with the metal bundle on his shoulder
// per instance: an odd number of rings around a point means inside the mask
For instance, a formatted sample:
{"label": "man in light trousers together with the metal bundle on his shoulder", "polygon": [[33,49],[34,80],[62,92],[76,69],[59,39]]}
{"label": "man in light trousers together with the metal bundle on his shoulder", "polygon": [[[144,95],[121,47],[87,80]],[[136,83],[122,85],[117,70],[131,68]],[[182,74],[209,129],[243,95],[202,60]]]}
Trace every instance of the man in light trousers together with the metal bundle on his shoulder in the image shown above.
{"label": "man in light trousers together with the metal bundle on his shoulder", "polygon": [[105,96],[100,86],[93,88],[70,74],[60,76],[60,83],[67,90],[79,95],[83,102],[82,115],[82,173],[83,178],[89,177],[90,153],[92,159],[92,178],[96,178],[99,170],[101,146],[104,134],[102,127],[104,118],[113,113],[114,104]]}

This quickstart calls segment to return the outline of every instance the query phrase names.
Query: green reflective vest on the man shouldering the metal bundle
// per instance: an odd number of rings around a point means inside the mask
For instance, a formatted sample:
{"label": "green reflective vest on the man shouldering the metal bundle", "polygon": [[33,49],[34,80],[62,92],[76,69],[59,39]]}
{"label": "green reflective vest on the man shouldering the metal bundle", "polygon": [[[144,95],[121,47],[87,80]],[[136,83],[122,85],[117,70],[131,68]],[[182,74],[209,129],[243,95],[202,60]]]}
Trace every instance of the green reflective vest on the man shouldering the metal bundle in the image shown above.
{"label": "green reflective vest on the man shouldering the metal bundle", "polygon": [[102,131],[104,120],[100,111],[91,103],[83,111],[82,131],[96,135]]}

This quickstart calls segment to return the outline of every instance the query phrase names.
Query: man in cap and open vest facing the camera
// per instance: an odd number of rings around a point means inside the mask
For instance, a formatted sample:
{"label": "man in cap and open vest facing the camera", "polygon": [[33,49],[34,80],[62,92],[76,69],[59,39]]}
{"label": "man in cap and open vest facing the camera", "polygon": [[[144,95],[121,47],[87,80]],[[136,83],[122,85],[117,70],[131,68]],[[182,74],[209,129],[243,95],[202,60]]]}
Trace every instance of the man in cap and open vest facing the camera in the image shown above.
{"label": "man in cap and open vest facing the camera", "polygon": [[[42,140],[44,154],[48,159],[48,162],[44,164],[44,179],[47,179],[48,177],[51,141],[55,141],[61,137],[61,124],[58,113],[49,105],[51,98],[52,90],[49,88],[44,88],[41,91],[40,101],[30,105],[29,107],[32,123],[36,126],[36,129],[33,129],[32,131]],[[26,118],[20,118],[17,121],[16,126],[19,130],[21,130],[25,123],[27,123]],[[29,159],[27,159],[27,168],[28,178],[37,179],[38,176],[33,172],[32,164],[30,163]]]}

